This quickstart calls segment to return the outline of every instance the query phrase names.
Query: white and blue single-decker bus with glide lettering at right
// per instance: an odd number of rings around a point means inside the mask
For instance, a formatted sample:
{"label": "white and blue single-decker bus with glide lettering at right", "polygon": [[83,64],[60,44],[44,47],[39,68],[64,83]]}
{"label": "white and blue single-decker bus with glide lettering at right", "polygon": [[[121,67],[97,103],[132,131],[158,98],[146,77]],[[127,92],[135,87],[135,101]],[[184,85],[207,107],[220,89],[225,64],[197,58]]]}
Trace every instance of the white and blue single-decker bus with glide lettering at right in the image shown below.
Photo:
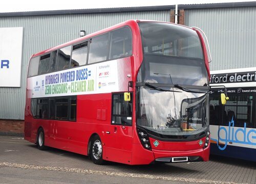
{"label": "white and blue single-decker bus with glide lettering at right", "polygon": [[256,68],[210,73],[210,84],[224,85],[229,97],[222,106],[222,90],[210,92],[210,152],[256,162]]}

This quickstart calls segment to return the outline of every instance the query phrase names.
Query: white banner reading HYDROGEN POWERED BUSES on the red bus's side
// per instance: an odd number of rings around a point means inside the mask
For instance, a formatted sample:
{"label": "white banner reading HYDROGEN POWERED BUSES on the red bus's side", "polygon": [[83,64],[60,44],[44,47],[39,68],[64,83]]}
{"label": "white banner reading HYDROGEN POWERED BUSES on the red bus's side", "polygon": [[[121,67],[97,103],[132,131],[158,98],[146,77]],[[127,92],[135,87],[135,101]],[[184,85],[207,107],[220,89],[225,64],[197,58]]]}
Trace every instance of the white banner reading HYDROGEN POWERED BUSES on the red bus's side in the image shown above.
{"label": "white banner reading HYDROGEN POWERED BUSES on the red bus's side", "polygon": [[30,77],[27,88],[29,98],[119,91],[117,61]]}

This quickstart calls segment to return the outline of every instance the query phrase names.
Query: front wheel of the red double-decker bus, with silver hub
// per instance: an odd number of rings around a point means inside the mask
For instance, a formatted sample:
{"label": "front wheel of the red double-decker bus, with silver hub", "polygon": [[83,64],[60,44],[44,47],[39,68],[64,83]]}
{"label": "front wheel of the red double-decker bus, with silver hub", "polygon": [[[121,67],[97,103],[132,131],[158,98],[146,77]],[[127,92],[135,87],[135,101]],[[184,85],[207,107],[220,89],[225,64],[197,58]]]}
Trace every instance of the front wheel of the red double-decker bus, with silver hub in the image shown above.
{"label": "front wheel of the red double-decker bus, with silver hub", "polygon": [[102,165],[104,161],[102,159],[103,148],[101,140],[98,135],[95,135],[91,144],[91,159],[94,164]]}

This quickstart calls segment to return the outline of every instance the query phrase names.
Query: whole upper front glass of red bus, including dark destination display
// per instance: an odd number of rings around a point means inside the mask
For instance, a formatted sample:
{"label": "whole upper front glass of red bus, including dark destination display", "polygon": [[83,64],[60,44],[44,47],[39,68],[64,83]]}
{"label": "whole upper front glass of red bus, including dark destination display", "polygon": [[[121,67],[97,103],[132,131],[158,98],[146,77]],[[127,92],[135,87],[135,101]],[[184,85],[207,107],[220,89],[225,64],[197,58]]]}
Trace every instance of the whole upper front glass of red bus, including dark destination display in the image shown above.
{"label": "whole upper front glass of red bus, including dark destination display", "polygon": [[161,22],[140,22],[139,27],[144,55],[138,82],[208,85],[202,46],[194,30]]}

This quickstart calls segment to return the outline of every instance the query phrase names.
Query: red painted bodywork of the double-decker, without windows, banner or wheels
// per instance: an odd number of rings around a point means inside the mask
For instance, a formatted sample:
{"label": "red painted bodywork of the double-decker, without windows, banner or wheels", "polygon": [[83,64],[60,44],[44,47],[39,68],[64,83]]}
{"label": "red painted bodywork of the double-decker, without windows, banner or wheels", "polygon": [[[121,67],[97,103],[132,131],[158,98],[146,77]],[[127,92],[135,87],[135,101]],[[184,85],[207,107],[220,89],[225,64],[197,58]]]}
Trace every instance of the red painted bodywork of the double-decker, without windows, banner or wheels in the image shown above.
{"label": "red painted bodywork of the double-decker, without windows, banner or wheels", "polygon": [[[72,151],[83,155],[88,155],[88,144],[91,136],[95,134],[99,135],[103,146],[103,160],[106,161],[141,165],[150,164],[159,157],[173,156],[200,156],[203,161],[208,161],[209,146],[205,149],[203,148],[204,144],[200,146],[198,143],[200,139],[187,142],[164,142],[158,140],[160,144],[155,147],[153,144],[155,139],[150,138],[152,150],[147,150],[141,145],[136,131],[135,82],[143,60],[143,52],[140,30],[136,20],[128,20],[114,25],[113,27],[78,38],[45,51],[41,51],[33,55],[33,57],[47,54],[58,48],[81,42],[83,40],[88,40],[93,36],[104,34],[124,26],[130,27],[132,30],[133,55],[131,57],[120,59],[118,62],[129,61],[131,66],[130,81],[133,81],[133,88],[130,88],[130,91],[134,94],[132,126],[111,124],[112,93],[77,95],[77,116],[75,122],[34,119],[31,113],[31,98],[28,97],[31,91],[29,91],[27,87],[25,126],[31,128],[29,129],[31,131],[31,135],[27,136],[28,134],[26,131],[28,131],[28,129],[25,128],[25,139],[32,143],[36,143],[37,130],[39,127],[42,127],[45,133],[46,146]],[[205,46],[204,44],[202,45],[204,47],[203,50],[205,55]],[[206,58],[207,57],[205,57],[205,59]],[[127,82],[128,81],[123,84],[125,89],[127,88]],[[102,111],[105,112],[104,116],[100,114]],[[109,132],[110,134],[106,134],[106,132]],[[205,142],[205,138],[202,138],[202,141]]]}

